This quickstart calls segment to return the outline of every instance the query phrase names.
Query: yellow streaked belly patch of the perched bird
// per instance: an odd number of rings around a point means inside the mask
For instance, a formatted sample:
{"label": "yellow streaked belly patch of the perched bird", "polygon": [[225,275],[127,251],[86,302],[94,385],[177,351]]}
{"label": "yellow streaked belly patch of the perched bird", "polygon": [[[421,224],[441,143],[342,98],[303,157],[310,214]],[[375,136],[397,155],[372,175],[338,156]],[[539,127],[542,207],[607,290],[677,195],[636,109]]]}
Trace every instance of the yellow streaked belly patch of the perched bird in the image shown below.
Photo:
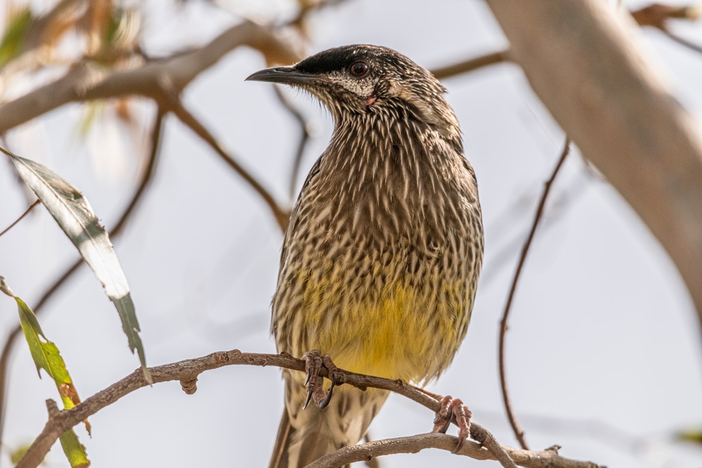
{"label": "yellow streaked belly patch of the perched bird", "polygon": [[458,349],[458,315],[466,313],[453,300],[459,285],[439,295],[451,303],[404,285],[387,285],[379,300],[367,294],[347,301],[322,283],[307,286],[303,347],[329,354],[340,368],[420,382],[441,373]]}

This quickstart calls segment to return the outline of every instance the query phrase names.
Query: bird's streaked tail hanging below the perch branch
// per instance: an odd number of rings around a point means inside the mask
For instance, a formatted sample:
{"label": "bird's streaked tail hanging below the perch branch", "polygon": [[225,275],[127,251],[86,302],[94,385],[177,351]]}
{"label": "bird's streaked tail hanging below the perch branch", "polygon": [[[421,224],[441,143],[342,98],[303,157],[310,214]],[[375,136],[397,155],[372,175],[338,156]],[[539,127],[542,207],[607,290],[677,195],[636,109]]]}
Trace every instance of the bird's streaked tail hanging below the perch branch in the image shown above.
{"label": "bird's streaked tail hanging below the perch branch", "polygon": [[303,468],[327,453],[355,445],[388,398],[383,390],[362,392],[345,386],[334,390],[329,406],[323,410],[314,403],[303,410],[304,387],[293,390],[291,386],[299,384],[294,381],[286,385],[286,408],[269,468]]}

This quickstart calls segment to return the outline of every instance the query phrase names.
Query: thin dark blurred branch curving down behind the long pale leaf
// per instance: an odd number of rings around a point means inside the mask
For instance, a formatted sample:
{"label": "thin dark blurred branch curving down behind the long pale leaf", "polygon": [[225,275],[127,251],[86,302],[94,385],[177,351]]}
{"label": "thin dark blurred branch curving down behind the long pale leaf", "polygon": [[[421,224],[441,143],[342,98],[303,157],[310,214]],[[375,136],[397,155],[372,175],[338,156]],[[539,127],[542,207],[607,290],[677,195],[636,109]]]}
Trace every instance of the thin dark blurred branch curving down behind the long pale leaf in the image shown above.
{"label": "thin dark blurred branch curving down behind the long pale leaf", "polygon": [[[127,221],[131,217],[131,214],[138,206],[138,203],[143,198],[146,189],[149,187],[150,182],[154,177],[156,171],[156,163],[161,149],[161,137],[163,135],[163,122],[164,122],[164,112],[159,108],[157,110],[156,119],[154,121],[154,127],[151,133],[151,149],[150,154],[147,159],[147,167],[142,175],[142,179],[139,182],[139,186],[131,197],[128,205],[122,212],[121,217],[117,221],[117,224],[109,230],[111,239],[116,239],[123,231],[124,227],[127,225]],[[70,265],[65,272],[63,272],[58,279],[56,279],[53,284],[46,290],[44,295],[39,299],[37,305],[34,306],[34,313],[39,314],[46,305],[46,302],[53,297],[53,295],[60,290],[62,286],[72,278],[73,274],[78,271],[79,267],[83,265],[83,258],[79,258],[72,265]],[[11,333],[8,335],[5,345],[2,349],[2,354],[0,355],[0,440],[2,440],[2,433],[4,429],[4,418],[5,418],[5,405],[6,405],[6,391],[8,382],[8,364],[10,361],[10,355],[13,349],[15,341],[18,339],[22,333],[22,328],[20,326],[15,326]]]}

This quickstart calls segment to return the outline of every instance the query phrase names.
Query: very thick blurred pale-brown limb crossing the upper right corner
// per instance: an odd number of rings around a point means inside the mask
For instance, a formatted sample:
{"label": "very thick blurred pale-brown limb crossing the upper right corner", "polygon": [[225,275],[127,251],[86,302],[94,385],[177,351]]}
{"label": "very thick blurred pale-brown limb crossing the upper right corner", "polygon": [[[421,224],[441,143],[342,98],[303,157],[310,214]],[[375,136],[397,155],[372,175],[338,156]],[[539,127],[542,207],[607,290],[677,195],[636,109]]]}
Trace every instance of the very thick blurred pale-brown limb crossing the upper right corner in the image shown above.
{"label": "very thick blurred pale-brown limb crossing the upper right corner", "polygon": [[702,135],[632,22],[599,0],[487,2],[536,95],[668,251],[702,321]]}

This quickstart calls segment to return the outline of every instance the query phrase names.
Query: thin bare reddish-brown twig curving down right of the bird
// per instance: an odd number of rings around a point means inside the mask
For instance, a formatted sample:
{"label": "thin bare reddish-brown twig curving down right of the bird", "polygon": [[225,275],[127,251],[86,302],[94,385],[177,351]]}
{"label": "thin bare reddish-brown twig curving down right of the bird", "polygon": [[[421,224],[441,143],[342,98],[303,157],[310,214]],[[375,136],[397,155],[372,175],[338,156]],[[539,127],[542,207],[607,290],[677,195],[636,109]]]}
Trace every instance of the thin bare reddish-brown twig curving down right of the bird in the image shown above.
{"label": "thin bare reddish-brown twig curving down right of the bird", "polygon": [[531,231],[529,231],[529,236],[527,236],[527,241],[524,242],[524,247],[522,248],[522,255],[519,257],[519,263],[517,263],[517,270],[515,271],[514,279],[512,279],[512,286],[510,287],[510,293],[507,297],[507,304],[505,305],[505,311],[502,314],[502,321],[500,322],[500,342],[498,345],[499,349],[499,361],[500,361],[500,385],[502,388],[502,399],[505,403],[505,410],[507,411],[507,417],[510,420],[510,425],[512,426],[512,431],[519,441],[519,446],[524,450],[528,450],[527,440],[524,439],[524,431],[519,427],[519,422],[517,422],[517,417],[512,410],[512,403],[510,402],[510,396],[507,391],[507,375],[505,373],[505,336],[507,334],[507,318],[510,314],[510,308],[512,307],[512,300],[515,297],[515,291],[517,290],[517,283],[519,282],[519,275],[522,274],[522,267],[524,267],[524,260],[527,259],[527,253],[529,253],[529,247],[531,246],[531,241],[534,240],[534,233],[536,232],[536,227],[538,222],[541,220],[543,215],[543,208],[546,204],[546,199],[548,198],[548,192],[550,192],[553,180],[555,180],[558,171],[561,166],[563,166],[563,161],[566,160],[566,156],[570,152],[570,139],[566,137],[566,142],[563,147],[561,156],[556,163],[556,167],[553,169],[551,177],[545,182],[543,186],[543,194],[541,194],[541,200],[538,202],[538,208],[536,208],[536,215],[534,215],[534,222],[531,223]]}

